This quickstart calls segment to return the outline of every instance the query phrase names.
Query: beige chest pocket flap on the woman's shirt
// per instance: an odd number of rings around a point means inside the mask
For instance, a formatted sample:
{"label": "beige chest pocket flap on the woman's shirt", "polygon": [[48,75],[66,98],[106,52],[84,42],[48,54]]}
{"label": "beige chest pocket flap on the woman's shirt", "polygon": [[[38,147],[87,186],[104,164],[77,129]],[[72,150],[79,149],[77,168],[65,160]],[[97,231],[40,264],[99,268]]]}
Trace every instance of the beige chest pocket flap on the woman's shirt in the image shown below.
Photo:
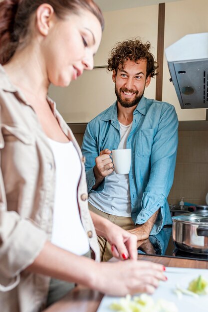
{"label": "beige chest pocket flap on the woman's shirt", "polygon": [[19,126],[2,125],[1,127],[2,137],[6,143],[23,143],[25,145],[33,145],[34,137],[26,132],[25,129]]}

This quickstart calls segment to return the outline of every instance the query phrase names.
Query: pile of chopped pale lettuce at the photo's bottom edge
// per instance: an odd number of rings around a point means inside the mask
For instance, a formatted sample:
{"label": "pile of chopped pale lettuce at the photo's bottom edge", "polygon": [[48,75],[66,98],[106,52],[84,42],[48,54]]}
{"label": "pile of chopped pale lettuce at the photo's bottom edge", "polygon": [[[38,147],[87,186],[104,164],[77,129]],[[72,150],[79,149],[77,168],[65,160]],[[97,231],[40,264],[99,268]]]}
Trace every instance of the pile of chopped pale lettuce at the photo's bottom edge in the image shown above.
{"label": "pile of chopped pale lettuce at the photo's bottom edge", "polygon": [[178,312],[174,303],[163,299],[155,302],[151,296],[146,294],[133,298],[127,295],[126,298],[112,303],[109,308],[117,312]]}

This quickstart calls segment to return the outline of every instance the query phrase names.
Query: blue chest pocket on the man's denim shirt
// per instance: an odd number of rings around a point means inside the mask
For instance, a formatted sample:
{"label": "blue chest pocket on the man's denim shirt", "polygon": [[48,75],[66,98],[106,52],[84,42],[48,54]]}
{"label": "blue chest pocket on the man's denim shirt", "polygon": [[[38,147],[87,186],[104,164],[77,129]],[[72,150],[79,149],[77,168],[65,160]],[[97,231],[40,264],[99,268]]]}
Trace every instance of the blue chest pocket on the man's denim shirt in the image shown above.
{"label": "blue chest pocket on the man's denim shirt", "polygon": [[155,129],[140,130],[136,136],[136,154],[139,157],[150,157],[152,153]]}

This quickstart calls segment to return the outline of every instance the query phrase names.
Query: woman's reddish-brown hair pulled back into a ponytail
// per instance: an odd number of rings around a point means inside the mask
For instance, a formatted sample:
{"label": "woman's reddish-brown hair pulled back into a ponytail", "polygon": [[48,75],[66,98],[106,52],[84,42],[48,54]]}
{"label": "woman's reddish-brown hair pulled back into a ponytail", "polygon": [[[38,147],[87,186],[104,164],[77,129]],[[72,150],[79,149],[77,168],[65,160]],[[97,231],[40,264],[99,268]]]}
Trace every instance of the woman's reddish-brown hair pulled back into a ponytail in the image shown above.
{"label": "woman's reddish-brown hair pulled back into a ponytail", "polygon": [[24,42],[30,28],[31,15],[42,3],[50,4],[59,18],[70,11],[79,14],[80,9],[92,12],[102,30],[104,18],[93,0],[3,0],[0,1],[0,64],[6,64],[17,47]]}

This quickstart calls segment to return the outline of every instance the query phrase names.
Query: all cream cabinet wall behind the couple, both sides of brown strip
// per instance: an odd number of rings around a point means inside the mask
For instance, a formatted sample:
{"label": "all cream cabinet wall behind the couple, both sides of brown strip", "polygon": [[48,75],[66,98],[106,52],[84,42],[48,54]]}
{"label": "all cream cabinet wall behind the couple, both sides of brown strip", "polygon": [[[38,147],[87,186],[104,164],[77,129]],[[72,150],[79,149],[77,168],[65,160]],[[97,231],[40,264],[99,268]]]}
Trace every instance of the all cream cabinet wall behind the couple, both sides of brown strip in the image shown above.
{"label": "all cream cabinet wall behind the couple, both sides of brown strip", "polygon": [[[135,36],[140,36],[143,41],[149,40],[151,51],[157,57],[158,5],[104,12],[104,17],[105,30],[95,56],[95,66],[106,65],[109,52],[117,41]],[[185,34],[196,32],[208,32],[208,0],[166,3],[165,48]],[[169,78],[164,56],[163,101],[176,107],[179,120],[205,120],[205,109],[181,109]],[[152,79],[145,96],[155,98],[155,89],[156,79]],[[51,86],[49,96],[57,102],[58,110],[68,123],[88,122],[115,101],[114,84],[106,68],[85,72],[68,88]]]}

